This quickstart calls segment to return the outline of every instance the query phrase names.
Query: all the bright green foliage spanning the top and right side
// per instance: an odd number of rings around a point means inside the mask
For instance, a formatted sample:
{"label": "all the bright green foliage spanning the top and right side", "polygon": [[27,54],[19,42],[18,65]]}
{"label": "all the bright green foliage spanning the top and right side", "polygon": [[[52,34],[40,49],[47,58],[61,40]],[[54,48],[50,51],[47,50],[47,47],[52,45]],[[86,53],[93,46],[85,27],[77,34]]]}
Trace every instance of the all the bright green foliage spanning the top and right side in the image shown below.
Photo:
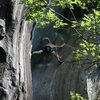
{"label": "all the bright green foliage spanning the top and right side", "polygon": [[[28,21],[40,22],[40,27],[54,23],[54,28],[67,25],[53,7],[59,6],[69,8],[71,11],[74,5],[88,11],[80,21],[70,21],[71,27],[77,29],[75,35],[79,38],[79,49],[75,51],[75,58],[80,60],[88,57],[93,62],[100,62],[100,1],[99,0],[21,0],[25,4],[25,17]],[[74,12],[73,16],[74,16]],[[60,18],[58,17],[60,16]],[[75,16],[74,16],[75,17]],[[99,39],[98,39],[99,37]]]}

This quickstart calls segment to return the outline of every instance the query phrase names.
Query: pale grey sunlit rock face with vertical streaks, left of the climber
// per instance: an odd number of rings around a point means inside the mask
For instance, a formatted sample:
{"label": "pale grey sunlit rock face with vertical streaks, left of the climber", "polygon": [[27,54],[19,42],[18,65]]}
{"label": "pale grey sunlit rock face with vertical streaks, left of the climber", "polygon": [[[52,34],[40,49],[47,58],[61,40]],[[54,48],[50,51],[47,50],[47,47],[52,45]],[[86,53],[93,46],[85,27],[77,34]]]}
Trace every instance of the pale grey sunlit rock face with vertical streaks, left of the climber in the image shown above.
{"label": "pale grey sunlit rock face with vertical streaks, left of the climber", "polygon": [[19,0],[0,0],[0,100],[32,100],[31,25]]}

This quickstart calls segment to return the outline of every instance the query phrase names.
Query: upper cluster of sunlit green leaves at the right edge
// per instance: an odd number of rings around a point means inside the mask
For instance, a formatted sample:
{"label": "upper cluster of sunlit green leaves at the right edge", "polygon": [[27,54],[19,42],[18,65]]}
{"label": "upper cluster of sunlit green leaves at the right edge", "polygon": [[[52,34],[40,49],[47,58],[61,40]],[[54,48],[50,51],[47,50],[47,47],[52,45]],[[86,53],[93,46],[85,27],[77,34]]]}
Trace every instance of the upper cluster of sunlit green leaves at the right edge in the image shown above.
{"label": "upper cluster of sunlit green leaves at the right edge", "polygon": [[92,13],[84,15],[81,26],[93,34],[100,34],[100,11],[93,10]]}

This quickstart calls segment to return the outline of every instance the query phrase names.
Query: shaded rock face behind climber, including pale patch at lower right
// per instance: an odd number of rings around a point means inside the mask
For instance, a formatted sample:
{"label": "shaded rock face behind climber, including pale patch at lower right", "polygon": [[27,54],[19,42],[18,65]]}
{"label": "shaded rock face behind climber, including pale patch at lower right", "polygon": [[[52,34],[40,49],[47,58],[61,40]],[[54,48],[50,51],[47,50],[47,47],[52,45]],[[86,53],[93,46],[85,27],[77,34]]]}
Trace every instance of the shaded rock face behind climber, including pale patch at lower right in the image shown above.
{"label": "shaded rock face behind climber, including pale patch at lower right", "polygon": [[53,29],[51,24],[40,29],[38,24],[35,25],[32,52],[39,50],[43,37],[49,37],[55,44],[66,45],[59,51],[64,60],[61,65],[52,54],[32,55],[33,100],[71,100],[71,91],[89,100],[97,100],[100,92],[100,70],[96,66],[88,68],[89,65],[83,64],[84,62],[72,62],[72,52],[77,47],[72,36],[75,32],[70,27],[66,27],[66,30]]}

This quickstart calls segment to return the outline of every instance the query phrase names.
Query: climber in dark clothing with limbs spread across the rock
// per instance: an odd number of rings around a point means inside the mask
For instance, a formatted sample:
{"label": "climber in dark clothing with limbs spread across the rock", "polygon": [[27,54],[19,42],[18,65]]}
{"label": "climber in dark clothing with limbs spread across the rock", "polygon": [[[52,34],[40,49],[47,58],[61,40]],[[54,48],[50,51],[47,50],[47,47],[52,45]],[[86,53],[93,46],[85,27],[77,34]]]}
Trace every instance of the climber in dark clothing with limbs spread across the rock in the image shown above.
{"label": "climber in dark clothing with limbs spread across the rock", "polygon": [[60,64],[63,63],[63,61],[60,60],[59,54],[57,53],[57,48],[62,48],[65,43],[62,45],[54,45],[53,43],[51,43],[48,37],[43,38],[42,41],[45,41],[46,43],[42,45],[42,48],[39,51],[34,51],[32,52],[32,54],[51,53],[56,57]]}

